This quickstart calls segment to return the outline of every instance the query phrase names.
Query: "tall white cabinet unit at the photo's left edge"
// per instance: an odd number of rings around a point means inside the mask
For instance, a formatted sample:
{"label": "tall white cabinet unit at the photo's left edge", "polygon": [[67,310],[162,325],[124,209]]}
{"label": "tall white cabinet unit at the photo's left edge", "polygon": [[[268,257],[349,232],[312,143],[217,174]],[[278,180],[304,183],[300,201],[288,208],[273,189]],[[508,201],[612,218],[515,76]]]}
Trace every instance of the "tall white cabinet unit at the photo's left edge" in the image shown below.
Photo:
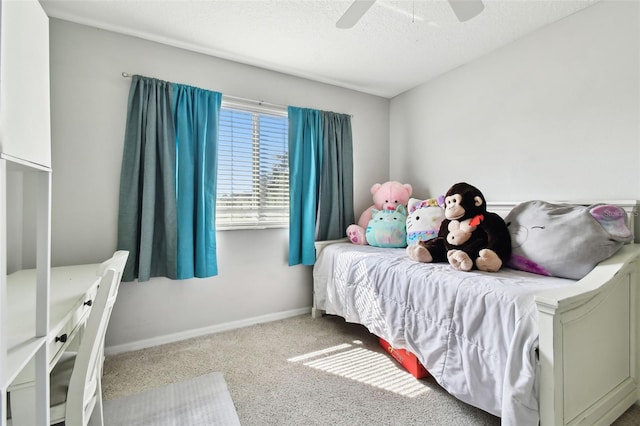
{"label": "tall white cabinet unit at the photo's left edge", "polygon": [[[26,199],[34,200],[24,203],[29,211],[22,212],[12,204]],[[16,218],[8,214],[15,211],[23,215]],[[22,250],[22,246],[21,233],[13,232],[18,238],[9,239],[7,228],[15,231],[25,220],[36,228],[37,274],[34,282],[27,284],[36,288],[36,319],[33,336],[14,344],[7,318],[7,306],[12,303],[7,292],[11,280],[7,259],[12,250]],[[0,1],[0,426],[6,424],[7,389],[29,363],[36,372],[37,426],[49,425],[50,228],[49,19],[37,0]]]}

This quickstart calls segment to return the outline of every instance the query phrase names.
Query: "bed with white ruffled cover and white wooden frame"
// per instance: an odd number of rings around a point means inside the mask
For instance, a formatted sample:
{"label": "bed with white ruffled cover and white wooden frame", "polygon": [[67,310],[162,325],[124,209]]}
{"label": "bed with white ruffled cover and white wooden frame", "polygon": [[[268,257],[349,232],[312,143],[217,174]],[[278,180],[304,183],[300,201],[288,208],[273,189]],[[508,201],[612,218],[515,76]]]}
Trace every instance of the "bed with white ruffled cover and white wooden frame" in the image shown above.
{"label": "bed with white ruffled cover and white wooden frame", "polygon": [[[616,204],[633,229],[637,203]],[[450,394],[503,425],[610,424],[639,399],[640,244],[580,280],[459,272],[345,240],[316,249],[314,317],[341,316],[414,353]]]}

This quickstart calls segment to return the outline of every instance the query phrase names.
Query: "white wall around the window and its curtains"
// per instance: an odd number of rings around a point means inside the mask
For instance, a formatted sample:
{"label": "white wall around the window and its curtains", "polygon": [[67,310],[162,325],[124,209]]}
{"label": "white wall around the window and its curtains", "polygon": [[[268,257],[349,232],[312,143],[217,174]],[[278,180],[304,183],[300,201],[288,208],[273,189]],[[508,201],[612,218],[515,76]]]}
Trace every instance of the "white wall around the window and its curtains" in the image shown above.
{"label": "white wall around the window and its curtains", "polygon": [[[52,263],[99,262],[116,248],[126,71],[223,94],[352,114],[356,215],[388,179],[389,100],[133,37],[51,20]],[[243,324],[311,306],[311,268],[287,265],[288,231],[218,232],[219,275],[123,283],[107,346]],[[164,337],[163,337],[164,336]],[[173,338],[172,336],[167,337]]]}

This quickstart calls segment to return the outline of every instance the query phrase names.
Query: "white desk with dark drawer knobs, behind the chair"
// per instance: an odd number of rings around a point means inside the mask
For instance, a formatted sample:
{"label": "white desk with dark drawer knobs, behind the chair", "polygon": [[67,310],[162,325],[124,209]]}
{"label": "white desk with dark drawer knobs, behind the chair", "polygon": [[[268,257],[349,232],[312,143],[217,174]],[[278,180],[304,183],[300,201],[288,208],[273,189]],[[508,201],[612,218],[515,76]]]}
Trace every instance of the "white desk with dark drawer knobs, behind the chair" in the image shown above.
{"label": "white desk with dark drawer knobs, behind the chair", "polygon": [[[99,264],[51,268],[49,290],[49,371],[82,329],[91,310],[100,277]],[[19,365],[20,352],[35,335],[35,270],[7,277],[9,359]],[[35,424],[33,363],[16,371],[9,387],[14,426]]]}

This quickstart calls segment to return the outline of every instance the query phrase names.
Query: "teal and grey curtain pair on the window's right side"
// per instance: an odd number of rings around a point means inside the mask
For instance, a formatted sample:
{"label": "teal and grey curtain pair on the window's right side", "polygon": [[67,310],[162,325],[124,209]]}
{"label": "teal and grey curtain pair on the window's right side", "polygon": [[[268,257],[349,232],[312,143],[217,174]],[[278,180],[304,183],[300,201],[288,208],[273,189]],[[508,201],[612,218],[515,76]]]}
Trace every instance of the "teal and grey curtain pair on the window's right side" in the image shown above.
{"label": "teal and grey curtain pair on the window's right side", "polygon": [[316,240],[345,236],[353,214],[351,117],[289,107],[289,265],[313,265]]}

